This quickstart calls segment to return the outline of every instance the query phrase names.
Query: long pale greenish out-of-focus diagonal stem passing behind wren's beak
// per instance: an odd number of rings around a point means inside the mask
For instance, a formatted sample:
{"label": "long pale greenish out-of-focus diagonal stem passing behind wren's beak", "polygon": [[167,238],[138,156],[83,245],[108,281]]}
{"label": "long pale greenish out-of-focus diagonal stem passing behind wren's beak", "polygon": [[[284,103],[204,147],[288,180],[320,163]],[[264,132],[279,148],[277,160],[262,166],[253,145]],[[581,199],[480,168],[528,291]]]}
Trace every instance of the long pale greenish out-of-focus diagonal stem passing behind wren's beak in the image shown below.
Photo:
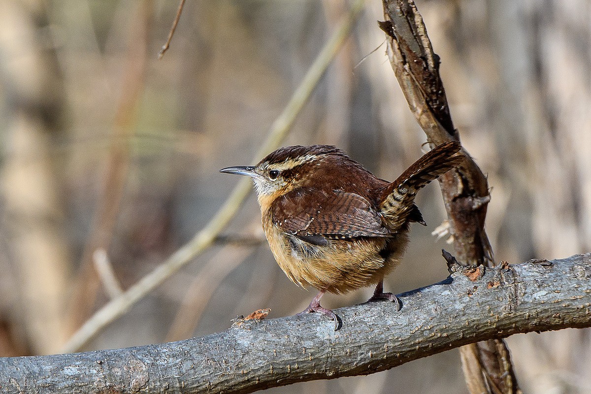
{"label": "long pale greenish out-of-focus diagonal stem passing behind wren's beak", "polygon": [[[260,158],[277,148],[287,135],[287,132],[290,131],[291,126],[296,121],[297,115],[310,99],[320,78],[326,72],[330,61],[335,57],[343,43],[345,43],[355,19],[363,8],[363,2],[364,0],[355,1],[348,15],[340,22],[337,30],[324,45],[322,51],[320,51],[320,54],[310,66],[306,76],[304,76],[300,86],[297,87],[296,92],[291,96],[290,102],[271,125],[267,139],[262,145],[262,148],[257,152],[256,158]],[[125,314],[129,308],[144,298],[145,295],[212,245],[217,235],[219,235],[222,229],[226,227],[232,217],[238,212],[239,207],[250,191],[250,181],[246,179],[240,181],[203,230],[197,233],[189,243],[173,253],[167,261],[155,268],[151,273],[148,273],[148,275],[140,279],[135,285],[131,286],[121,297],[113,299],[96,312],[66,343],[63,348],[64,353],[79,350],[90,339],[95,337],[100,330],[116,318]]]}

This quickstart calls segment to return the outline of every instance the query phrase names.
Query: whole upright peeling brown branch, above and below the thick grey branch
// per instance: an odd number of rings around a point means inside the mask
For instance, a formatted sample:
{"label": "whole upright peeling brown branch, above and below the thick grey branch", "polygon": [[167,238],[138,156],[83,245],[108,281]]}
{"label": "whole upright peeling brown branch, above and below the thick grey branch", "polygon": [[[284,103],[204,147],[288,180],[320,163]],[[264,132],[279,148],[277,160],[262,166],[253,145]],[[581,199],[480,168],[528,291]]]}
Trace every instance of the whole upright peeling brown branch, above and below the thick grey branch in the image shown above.
{"label": "whole upright peeling brown branch, above and below the thick grey branch", "polygon": [[[443,82],[440,59],[434,53],[423,18],[413,0],[383,0],[388,57],[411,112],[431,145],[454,139],[454,129]],[[450,234],[460,262],[494,265],[484,230],[490,200],[486,177],[463,149],[465,159],[440,178],[449,216]],[[502,340],[489,340],[460,348],[466,383],[472,393],[518,393],[509,351]]]}

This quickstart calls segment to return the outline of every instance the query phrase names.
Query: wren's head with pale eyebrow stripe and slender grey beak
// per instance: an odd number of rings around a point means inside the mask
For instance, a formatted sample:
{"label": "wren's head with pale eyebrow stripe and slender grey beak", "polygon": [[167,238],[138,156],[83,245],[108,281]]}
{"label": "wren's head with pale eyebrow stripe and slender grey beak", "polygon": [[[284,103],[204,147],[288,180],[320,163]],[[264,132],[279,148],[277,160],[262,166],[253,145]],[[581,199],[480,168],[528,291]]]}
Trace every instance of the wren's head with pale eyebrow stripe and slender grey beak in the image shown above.
{"label": "wren's head with pale eyebrow stripe and slender grey beak", "polygon": [[272,200],[301,186],[314,168],[335,158],[350,160],[345,152],[335,146],[285,146],[255,166],[228,167],[220,172],[251,177],[261,203],[262,200]]}

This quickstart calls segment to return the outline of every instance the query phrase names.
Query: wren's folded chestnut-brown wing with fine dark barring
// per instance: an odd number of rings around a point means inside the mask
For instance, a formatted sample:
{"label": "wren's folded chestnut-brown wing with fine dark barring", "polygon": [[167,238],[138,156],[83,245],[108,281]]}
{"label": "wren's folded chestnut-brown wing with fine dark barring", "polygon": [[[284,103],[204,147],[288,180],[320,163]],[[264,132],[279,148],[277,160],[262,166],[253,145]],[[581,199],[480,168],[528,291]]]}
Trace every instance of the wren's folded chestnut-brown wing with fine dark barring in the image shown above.
{"label": "wren's folded chestnut-brown wing with fine dark barring", "polygon": [[[298,188],[280,197],[272,207],[276,226],[285,233],[318,245],[327,239],[384,237],[384,227],[372,204],[359,194]],[[320,236],[320,237],[318,237]]]}

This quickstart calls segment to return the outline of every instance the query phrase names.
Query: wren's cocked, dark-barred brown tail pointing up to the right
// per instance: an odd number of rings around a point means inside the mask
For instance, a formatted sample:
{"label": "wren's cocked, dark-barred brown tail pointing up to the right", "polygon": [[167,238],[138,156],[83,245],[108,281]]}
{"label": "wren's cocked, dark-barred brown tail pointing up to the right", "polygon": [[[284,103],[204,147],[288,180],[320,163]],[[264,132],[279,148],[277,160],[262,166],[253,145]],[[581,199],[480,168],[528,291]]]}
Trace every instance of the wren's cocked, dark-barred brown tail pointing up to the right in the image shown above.
{"label": "wren's cocked, dark-barred brown tail pointing up to the right", "polygon": [[458,142],[451,141],[431,149],[384,188],[380,208],[391,230],[395,232],[407,222],[413,207],[418,210],[414,205],[418,190],[457,167],[462,160],[461,155],[456,155],[460,148]]}

